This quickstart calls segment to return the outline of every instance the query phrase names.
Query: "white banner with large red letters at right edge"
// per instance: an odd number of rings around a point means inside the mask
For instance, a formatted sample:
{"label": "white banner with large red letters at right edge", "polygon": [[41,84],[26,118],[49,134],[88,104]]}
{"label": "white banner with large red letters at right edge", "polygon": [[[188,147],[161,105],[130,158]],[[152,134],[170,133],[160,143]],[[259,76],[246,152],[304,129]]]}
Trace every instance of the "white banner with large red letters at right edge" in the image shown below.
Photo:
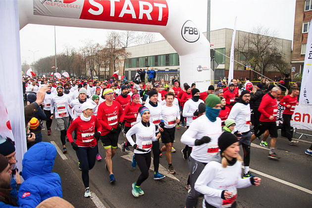
{"label": "white banner with large red letters at right edge", "polygon": [[294,128],[312,130],[312,105],[297,105],[290,125]]}

